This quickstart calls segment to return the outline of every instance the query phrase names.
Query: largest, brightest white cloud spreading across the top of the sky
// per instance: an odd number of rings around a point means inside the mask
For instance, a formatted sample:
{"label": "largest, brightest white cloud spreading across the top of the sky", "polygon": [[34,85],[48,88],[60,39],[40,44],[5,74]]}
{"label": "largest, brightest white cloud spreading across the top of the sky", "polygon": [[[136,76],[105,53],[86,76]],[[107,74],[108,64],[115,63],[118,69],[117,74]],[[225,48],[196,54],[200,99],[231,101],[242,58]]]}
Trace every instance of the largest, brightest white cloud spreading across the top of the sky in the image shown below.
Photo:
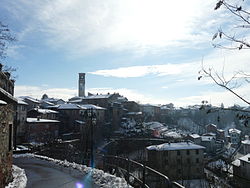
{"label": "largest, brightest white cloud spreading across the top of the sky", "polygon": [[27,3],[20,0],[5,4],[12,15],[26,23],[28,29],[22,37],[40,31],[46,34],[50,45],[79,55],[102,49],[190,47],[190,42],[194,46],[208,41],[208,29],[218,22],[217,12],[213,11],[215,2],[35,0]]}

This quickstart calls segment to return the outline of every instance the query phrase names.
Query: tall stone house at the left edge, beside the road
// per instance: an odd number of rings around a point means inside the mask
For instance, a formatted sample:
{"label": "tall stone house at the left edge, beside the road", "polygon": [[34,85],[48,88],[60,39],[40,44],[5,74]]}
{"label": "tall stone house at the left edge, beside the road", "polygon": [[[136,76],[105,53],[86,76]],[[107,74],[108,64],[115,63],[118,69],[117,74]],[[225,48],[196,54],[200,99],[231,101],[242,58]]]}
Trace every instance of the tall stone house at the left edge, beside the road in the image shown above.
{"label": "tall stone house at the left edge, beside the road", "polygon": [[17,100],[13,97],[14,80],[0,64],[0,187],[12,179],[13,121]]}

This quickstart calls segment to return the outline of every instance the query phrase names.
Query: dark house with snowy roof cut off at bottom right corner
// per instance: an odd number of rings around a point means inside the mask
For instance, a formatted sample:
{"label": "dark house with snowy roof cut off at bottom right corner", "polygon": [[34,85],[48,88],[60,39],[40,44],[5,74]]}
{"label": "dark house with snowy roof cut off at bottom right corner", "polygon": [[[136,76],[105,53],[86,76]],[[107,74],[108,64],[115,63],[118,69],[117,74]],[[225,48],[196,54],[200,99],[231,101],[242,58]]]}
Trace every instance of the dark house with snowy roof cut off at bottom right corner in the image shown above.
{"label": "dark house with snowy roof cut off at bottom right corner", "polygon": [[239,179],[241,184],[244,183],[248,187],[250,183],[250,153],[236,159],[232,162],[233,175],[236,179]]}

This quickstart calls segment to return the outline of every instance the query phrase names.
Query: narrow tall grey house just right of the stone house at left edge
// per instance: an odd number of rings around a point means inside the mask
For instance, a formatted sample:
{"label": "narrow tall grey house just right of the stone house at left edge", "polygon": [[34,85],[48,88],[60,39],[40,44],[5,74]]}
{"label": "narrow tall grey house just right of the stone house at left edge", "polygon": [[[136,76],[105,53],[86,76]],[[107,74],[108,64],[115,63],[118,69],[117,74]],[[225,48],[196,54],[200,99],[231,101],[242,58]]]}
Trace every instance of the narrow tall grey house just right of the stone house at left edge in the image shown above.
{"label": "narrow tall grey house just right of the stone house at left edge", "polygon": [[25,141],[28,103],[24,102],[21,98],[17,98],[17,100],[15,114],[16,144],[20,144]]}

